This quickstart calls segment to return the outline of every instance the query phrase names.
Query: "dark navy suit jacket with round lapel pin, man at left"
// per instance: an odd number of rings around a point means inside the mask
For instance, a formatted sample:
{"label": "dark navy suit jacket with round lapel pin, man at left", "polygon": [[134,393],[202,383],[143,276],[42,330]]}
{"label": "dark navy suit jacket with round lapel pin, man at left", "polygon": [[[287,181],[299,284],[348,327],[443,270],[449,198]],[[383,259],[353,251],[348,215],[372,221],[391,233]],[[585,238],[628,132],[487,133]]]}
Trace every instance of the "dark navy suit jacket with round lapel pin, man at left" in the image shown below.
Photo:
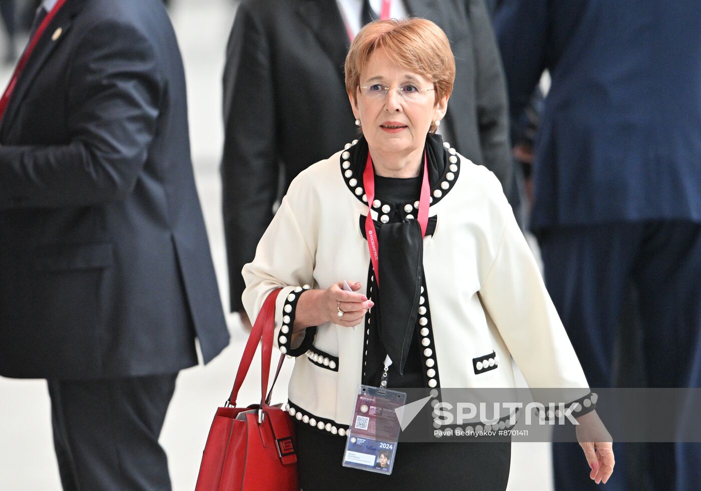
{"label": "dark navy suit jacket with round lapel pin, man at left", "polygon": [[160,1],[68,0],[0,144],[1,375],[172,373],[194,336],[205,361],[227,345]]}

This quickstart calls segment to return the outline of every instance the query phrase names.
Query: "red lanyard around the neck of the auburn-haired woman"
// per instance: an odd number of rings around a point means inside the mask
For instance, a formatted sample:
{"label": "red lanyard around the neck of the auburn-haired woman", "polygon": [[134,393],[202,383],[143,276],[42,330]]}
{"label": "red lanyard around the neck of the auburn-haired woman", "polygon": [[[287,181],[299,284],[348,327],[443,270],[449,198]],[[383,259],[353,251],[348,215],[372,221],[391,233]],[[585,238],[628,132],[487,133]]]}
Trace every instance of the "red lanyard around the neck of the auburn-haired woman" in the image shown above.
{"label": "red lanyard around the neck of the auburn-haired woman", "polygon": [[[375,199],[375,171],[372,166],[370,152],[367,152],[367,162],[365,171],[362,174],[362,182],[365,186],[365,196],[367,197],[367,217],[365,218],[365,237],[367,237],[367,247],[370,251],[372,269],[375,272],[375,281],[380,286],[379,263],[380,244],[377,240],[377,230],[372,221],[372,202]],[[428,226],[428,207],[430,206],[430,186],[428,185],[428,155],[423,151],[423,181],[421,182],[421,198],[418,201],[418,225],[421,226],[421,237],[426,237],[426,226]]]}

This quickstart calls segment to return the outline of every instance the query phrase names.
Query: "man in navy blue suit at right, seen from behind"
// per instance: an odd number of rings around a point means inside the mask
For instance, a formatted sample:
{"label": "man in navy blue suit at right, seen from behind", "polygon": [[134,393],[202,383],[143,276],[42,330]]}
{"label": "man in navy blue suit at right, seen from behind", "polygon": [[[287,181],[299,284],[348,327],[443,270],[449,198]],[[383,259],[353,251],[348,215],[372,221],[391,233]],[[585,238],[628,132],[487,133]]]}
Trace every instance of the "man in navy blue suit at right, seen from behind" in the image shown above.
{"label": "man in navy blue suit at right, seen from behind", "polygon": [[[613,385],[632,282],[651,387],[701,385],[701,4],[505,0],[496,29],[512,113],[544,69],[531,227],[545,281],[592,387]],[[674,425],[674,416],[662,417]],[[683,431],[683,430],[681,430]],[[559,490],[581,482],[576,445],[554,445]],[[627,450],[615,445],[627,482]],[[653,445],[651,489],[701,489],[697,444]]]}

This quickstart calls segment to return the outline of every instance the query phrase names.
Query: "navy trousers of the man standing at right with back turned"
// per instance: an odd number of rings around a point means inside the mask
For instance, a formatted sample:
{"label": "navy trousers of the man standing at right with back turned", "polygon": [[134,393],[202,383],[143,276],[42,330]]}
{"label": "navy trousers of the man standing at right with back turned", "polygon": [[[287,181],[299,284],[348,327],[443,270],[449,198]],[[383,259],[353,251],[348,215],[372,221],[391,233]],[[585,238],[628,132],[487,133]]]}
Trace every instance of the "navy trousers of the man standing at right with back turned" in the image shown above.
{"label": "navy trousers of the man standing at right with back turned", "polygon": [[[701,387],[701,225],[571,226],[538,238],[545,284],[591,387],[614,384],[614,347],[631,284],[639,299],[642,366],[620,370],[643,370],[648,387]],[[552,448],[558,491],[634,488],[630,443],[613,443],[615,471],[605,486],[590,480],[577,443]],[[651,489],[701,489],[701,444],[654,443],[648,451],[643,466]]]}

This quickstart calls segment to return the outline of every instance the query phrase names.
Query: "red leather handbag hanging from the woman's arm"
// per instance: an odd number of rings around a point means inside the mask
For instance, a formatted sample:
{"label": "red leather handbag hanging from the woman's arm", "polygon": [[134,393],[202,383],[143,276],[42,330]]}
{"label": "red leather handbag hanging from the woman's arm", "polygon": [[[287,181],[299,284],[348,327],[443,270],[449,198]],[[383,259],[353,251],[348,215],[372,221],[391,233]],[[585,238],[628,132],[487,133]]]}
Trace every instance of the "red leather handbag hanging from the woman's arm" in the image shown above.
{"label": "red leather handbag hanging from the woman's arm", "polygon": [[[266,298],[248,337],[231,396],[223,408],[217,409],[202,455],[196,491],[299,490],[294,422],[280,405],[270,405],[285,355],[280,357],[273,386],[266,396],[273,350],[275,299],[279,292],[277,289]],[[238,390],[261,338],[261,403],[237,408]]]}

